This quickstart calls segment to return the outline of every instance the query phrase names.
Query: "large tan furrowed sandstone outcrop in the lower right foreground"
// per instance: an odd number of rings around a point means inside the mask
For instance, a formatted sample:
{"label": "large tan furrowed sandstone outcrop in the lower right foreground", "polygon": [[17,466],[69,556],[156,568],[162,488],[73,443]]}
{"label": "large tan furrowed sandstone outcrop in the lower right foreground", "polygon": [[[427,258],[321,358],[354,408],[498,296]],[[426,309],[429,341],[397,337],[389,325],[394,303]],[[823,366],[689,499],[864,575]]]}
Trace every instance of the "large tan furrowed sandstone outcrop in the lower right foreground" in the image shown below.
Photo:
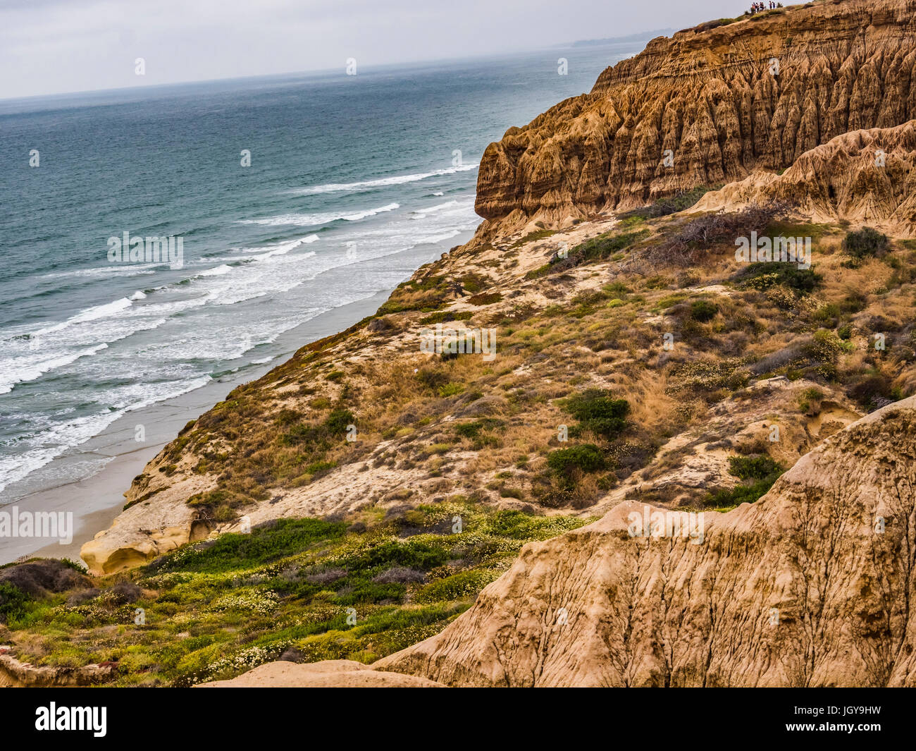
{"label": "large tan furrowed sandstone outcrop in the lower right foreground", "polygon": [[655,510],[627,502],[526,546],[441,634],[374,667],[457,686],[916,685],[914,468],[911,397],[691,536],[671,517],[633,536]]}

